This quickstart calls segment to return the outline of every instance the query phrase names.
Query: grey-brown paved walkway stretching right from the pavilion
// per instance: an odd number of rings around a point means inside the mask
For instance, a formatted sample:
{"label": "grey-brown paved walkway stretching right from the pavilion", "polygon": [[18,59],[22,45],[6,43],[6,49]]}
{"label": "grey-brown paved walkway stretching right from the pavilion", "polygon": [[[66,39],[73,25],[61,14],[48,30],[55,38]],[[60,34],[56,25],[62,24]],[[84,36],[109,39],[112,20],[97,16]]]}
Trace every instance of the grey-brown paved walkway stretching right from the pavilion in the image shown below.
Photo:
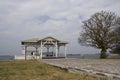
{"label": "grey-brown paved walkway stretching right from the pavilion", "polygon": [[120,80],[120,59],[43,59],[42,61],[76,71],[119,77],[114,80]]}

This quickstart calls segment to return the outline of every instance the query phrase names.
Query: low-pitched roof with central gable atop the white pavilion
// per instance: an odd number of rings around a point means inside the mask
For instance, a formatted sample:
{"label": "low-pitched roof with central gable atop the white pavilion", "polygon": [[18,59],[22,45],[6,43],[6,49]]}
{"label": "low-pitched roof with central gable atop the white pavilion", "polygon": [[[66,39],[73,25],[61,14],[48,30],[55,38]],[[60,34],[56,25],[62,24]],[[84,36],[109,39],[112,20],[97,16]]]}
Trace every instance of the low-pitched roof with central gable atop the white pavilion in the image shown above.
{"label": "low-pitched roof with central gable atop the white pavilion", "polygon": [[21,44],[40,43],[41,41],[43,41],[43,42],[45,42],[45,41],[53,41],[53,42],[58,42],[58,44],[68,44],[68,42],[58,40],[58,39],[56,39],[54,37],[51,37],[51,36],[47,36],[47,37],[44,37],[44,38],[32,38],[32,39],[23,40],[23,41],[21,41]]}

